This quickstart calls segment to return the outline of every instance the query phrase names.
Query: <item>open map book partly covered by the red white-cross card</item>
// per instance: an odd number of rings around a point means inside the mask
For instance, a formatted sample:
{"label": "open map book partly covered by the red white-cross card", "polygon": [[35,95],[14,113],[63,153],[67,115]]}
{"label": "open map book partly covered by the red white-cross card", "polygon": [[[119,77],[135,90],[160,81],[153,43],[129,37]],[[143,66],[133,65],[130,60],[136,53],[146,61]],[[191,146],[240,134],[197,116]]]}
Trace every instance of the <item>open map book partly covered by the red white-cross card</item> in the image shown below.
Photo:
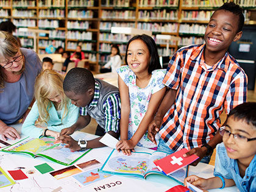
{"label": "open map book partly covered by the red white-cross card", "polygon": [[[166,155],[168,154],[165,152],[154,151],[152,153],[132,152],[132,155],[127,156],[113,149],[99,171],[121,176],[139,177],[141,179],[146,179],[149,174],[161,174],[166,176],[166,174],[160,171],[154,164],[155,160],[166,157]],[[187,177],[187,174],[188,166],[173,172],[167,177],[183,185],[183,180]]]}

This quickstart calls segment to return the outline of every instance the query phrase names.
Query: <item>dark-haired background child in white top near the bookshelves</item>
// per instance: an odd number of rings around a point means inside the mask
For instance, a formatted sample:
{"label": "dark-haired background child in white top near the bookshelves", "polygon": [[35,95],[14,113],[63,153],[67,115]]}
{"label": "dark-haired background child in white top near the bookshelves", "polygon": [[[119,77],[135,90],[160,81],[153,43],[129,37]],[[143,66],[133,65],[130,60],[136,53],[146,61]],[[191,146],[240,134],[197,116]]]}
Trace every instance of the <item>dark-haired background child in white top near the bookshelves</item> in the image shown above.
{"label": "dark-haired background child in white top near the bookshelves", "polygon": [[99,70],[101,73],[113,72],[116,73],[116,69],[118,69],[122,64],[122,57],[120,55],[120,51],[117,44],[113,44],[111,48],[110,60],[102,66]]}

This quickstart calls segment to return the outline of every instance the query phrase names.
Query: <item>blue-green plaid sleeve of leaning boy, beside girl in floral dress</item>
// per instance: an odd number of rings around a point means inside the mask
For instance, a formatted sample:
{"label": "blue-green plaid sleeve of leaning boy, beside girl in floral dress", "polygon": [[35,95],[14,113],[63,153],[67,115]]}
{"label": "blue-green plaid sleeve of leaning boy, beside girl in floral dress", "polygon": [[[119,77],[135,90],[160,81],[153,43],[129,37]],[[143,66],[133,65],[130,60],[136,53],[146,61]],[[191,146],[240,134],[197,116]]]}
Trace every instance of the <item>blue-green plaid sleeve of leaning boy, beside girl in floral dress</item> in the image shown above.
{"label": "blue-green plaid sleeve of leaning boy, beside girl in floral dress", "polygon": [[105,111],[105,132],[117,132],[121,118],[121,102],[119,93],[110,94],[103,105]]}

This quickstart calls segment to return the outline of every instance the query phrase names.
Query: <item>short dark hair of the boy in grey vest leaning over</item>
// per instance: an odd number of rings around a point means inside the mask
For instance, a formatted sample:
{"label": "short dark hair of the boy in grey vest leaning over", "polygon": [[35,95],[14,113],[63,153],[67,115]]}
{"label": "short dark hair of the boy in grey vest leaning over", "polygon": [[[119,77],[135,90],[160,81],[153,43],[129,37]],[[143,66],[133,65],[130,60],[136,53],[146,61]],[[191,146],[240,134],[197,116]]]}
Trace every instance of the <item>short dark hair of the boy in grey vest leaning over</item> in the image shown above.
{"label": "short dark hair of the boy in grey vest leaning over", "polygon": [[85,68],[73,68],[66,74],[63,90],[74,94],[84,94],[89,88],[94,88],[95,79],[91,71]]}

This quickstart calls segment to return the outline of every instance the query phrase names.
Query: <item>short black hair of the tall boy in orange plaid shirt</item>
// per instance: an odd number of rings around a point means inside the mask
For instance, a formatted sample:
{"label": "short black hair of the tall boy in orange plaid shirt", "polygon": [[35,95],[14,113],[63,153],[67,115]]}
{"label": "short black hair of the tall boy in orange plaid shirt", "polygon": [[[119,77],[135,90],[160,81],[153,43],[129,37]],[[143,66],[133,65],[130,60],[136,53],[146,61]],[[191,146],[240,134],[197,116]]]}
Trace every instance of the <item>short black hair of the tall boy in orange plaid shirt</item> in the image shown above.
{"label": "short black hair of the tall boy in orange plaid shirt", "polygon": [[238,30],[237,30],[237,32],[240,32],[243,29],[244,15],[243,15],[243,9],[239,5],[236,5],[234,2],[226,2],[221,7],[216,9],[216,11],[217,10],[226,10],[226,11],[232,12],[235,15],[238,15],[239,20],[238,20]]}

